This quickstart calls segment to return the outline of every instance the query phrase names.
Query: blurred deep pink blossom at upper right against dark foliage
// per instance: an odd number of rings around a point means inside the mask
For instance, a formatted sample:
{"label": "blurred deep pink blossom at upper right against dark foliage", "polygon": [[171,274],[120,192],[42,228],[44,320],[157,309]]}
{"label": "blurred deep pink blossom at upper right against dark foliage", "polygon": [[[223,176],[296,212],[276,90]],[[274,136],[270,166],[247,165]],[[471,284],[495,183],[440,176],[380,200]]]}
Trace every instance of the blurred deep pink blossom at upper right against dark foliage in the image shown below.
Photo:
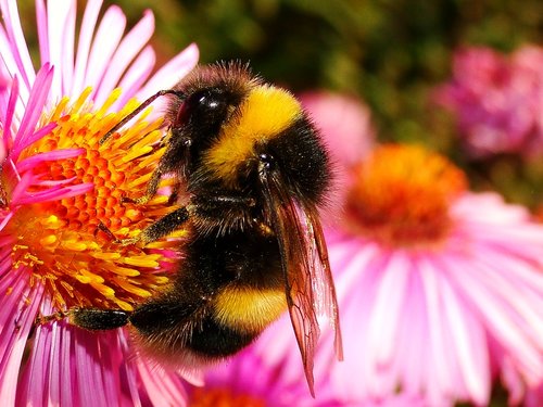
{"label": "blurred deep pink blossom at upper right against dark foliage", "polygon": [[509,56],[487,48],[456,53],[453,79],[437,101],[456,116],[473,157],[543,152],[543,50],[525,46]]}

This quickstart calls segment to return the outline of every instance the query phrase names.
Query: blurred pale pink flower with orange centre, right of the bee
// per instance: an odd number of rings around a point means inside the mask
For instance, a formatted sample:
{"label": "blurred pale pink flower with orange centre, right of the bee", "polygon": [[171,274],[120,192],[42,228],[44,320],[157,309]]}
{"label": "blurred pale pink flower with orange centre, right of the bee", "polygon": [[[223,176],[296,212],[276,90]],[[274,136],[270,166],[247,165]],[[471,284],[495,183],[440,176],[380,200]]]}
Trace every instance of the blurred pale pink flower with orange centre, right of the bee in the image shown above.
{"label": "blurred pale pink flower with orange centre, right of the bee", "polygon": [[543,382],[543,227],[466,185],[419,147],[377,148],[356,169],[327,234],[345,353],[329,380],[343,399],[488,405],[506,371]]}

